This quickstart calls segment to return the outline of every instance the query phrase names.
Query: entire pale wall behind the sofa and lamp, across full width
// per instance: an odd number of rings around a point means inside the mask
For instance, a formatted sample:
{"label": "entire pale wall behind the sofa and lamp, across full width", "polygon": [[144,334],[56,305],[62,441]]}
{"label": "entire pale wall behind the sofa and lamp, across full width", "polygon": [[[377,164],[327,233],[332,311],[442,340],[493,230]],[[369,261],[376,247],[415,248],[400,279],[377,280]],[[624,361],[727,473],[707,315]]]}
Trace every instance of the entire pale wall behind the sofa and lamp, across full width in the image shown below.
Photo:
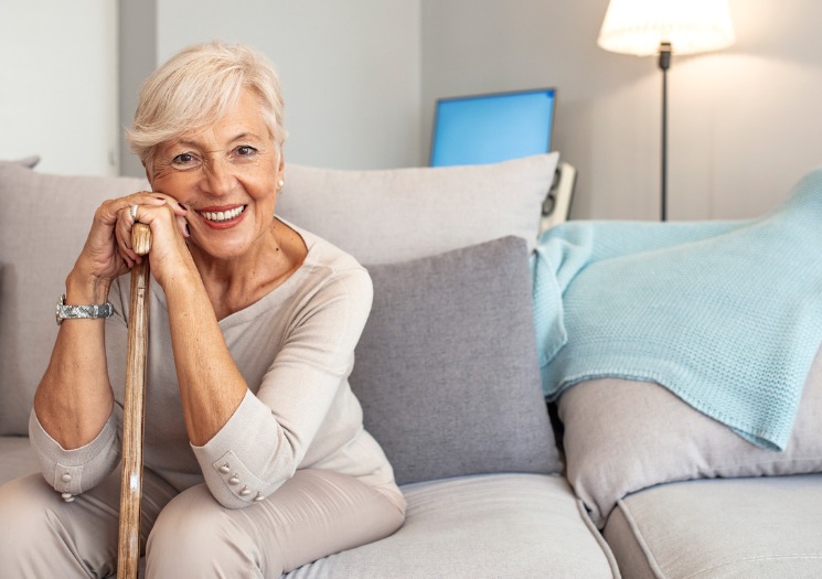
{"label": "entire pale wall behind the sofa and lamp, across full width", "polygon": [[[116,172],[111,151],[139,79],[177,49],[218,36],[257,45],[278,65],[292,162],[423,164],[437,97],[556,86],[554,143],[579,169],[573,216],[655,219],[660,73],[653,57],[597,47],[607,3],[120,0],[118,117],[115,3],[7,2],[0,159],[39,153],[43,171]],[[822,160],[822,3],[730,8],[737,43],[674,56],[669,75],[673,219],[759,215]]]}

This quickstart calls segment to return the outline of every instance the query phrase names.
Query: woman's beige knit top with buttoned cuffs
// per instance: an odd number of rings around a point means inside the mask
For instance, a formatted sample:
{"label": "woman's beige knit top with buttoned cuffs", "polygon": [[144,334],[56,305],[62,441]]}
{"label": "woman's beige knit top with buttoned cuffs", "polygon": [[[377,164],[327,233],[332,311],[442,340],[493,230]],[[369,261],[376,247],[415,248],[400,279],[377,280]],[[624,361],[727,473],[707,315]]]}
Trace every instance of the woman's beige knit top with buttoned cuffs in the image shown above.
{"label": "woman's beige knit top with buttoned cuffs", "polygon": [[[362,408],[348,380],[371,310],[371,278],[353,257],[293,228],[308,247],[302,266],[263,299],[220,322],[248,392],[203,447],[189,442],[164,296],[151,285],[145,465],[179,491],[205,481],[231,508],[265,498],[306,468],[356,476],[402,503],[385,454],[363,429]],[[66,451],[32,412],[32,443],[58,492],[88,490],[119,464],[128,276],[113,286],[109,300],[115,315],[106,322],[106,347],[116,404],[103,431],[85,447]],[[72,475],[68,483],[65,473]]]}

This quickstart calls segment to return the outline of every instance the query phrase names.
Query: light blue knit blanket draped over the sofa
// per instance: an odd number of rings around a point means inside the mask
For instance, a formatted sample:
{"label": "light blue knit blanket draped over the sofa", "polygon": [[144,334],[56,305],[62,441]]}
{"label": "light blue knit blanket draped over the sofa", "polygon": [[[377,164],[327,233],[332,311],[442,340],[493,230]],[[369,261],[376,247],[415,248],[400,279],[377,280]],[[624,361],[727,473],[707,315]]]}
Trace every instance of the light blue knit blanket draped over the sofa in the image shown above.
{"label": "light blue knit blanket draped over the sofa", "polygon": [[543,388],[655,382],[784,450],[822,342],[822,169],[761,218],[568,222],[532,260]]}

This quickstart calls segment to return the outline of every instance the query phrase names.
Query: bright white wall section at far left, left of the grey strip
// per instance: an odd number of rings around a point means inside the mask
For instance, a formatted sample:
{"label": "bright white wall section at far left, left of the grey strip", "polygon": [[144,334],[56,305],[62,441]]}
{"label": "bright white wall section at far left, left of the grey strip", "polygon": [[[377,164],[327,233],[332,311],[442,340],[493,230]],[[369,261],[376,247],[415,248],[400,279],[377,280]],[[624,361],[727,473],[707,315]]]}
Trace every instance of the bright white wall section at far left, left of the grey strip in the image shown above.
{"label": "bright white wall section at far left, left of the grey strip", "polygon": [[0,159],[117,174],[117,9],[110,0],[3,1]]}

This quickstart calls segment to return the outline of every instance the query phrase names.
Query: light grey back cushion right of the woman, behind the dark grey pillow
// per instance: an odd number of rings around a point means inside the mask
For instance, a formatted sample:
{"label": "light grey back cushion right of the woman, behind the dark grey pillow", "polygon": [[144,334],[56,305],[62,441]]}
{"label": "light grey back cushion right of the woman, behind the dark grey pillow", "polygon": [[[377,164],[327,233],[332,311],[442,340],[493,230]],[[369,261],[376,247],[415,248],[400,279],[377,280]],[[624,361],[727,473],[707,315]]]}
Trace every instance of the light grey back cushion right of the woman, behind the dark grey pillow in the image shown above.
{"label": "light grey back cushion right of the woman, behind the dark grey pillow", "polygon": [[536,244],[558,153],[502,163],[341,171],[286,164],[277,214],[362,264],[391,264],[516,235]]}

